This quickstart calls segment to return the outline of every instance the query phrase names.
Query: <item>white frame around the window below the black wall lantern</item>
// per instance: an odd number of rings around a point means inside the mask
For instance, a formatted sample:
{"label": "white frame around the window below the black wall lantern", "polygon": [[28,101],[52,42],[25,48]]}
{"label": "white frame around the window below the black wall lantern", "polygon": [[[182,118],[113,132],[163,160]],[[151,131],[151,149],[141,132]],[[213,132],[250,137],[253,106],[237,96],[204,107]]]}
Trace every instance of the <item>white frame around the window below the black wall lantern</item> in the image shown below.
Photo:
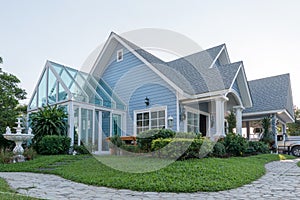
{"label": "white frame around the window below the black wall lantern", "polygon": [[165,128],[167,129],[168,127],[168,119],[167,119],[167,106],[160,106],[160,107],[153,107],[149,109],[142,109],[142,110],[135,110],[133,111],[133,132],[134,136],[137,135],[137,114],[140,113],[149,113],[149,130],[151,130],[151,112],[157,112],[157,111],[164,111],[165,112]]}

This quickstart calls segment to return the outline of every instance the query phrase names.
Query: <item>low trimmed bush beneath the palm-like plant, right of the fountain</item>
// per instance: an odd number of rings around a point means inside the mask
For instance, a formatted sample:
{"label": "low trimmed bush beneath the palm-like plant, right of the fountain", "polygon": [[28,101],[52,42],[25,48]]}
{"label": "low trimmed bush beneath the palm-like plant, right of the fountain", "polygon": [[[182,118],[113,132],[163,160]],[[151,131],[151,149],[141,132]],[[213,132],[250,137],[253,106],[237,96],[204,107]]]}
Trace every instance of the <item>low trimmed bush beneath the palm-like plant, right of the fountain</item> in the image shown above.
{"label": "low trimmed bush beneath the palm-like plant, right of the fountain", "polygon": [[71,138],[58,135],[46,135],[36,145],[36,150],[42,155],[68,154]]}

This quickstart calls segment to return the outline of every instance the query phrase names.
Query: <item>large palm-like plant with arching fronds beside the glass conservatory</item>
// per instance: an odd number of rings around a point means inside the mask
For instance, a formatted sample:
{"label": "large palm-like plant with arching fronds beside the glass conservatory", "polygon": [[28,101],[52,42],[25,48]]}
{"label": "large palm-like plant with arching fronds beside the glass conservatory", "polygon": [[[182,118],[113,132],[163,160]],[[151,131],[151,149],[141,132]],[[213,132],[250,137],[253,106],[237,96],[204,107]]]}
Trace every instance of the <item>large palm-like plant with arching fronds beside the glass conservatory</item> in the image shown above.
{"label": "large palm-like plant with arching fronds beside the glass conservatory", "polygon": [[67,134],[67,113],[63,107],[46,106],[30,116],[34,141],[39,142],[45,135]]}

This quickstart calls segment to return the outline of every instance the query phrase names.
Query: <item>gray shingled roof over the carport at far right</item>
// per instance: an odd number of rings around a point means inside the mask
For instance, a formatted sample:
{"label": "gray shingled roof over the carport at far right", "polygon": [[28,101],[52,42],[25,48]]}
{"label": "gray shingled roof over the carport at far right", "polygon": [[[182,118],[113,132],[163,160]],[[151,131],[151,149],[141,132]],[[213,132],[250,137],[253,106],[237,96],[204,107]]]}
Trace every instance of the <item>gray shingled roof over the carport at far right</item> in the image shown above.
{"label": "gray shingled roof over the carport at far right", "polygon": [[248,83],[253,106],[245,109],[243,113],[285,109],[294,116],[289,74],[252,80]]}

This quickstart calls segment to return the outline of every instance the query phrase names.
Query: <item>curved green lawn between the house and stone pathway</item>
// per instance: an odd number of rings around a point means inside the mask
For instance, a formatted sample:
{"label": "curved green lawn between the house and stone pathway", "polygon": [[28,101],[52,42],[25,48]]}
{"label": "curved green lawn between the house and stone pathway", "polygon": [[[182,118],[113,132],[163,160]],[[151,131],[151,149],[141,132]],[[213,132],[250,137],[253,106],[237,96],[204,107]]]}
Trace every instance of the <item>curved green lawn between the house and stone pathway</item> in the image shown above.
{"label": "curved green lawn between the house and stone pathway", "polygon": [[[89,185],[136,191],[197,192],[221,191],[249,184],[265,174],[271,161],[294,158],[276,154],[228,159],[204,158],[176,161],[157,171],[128,173],[112,169],[92,156],[41,156],[33,161],[0,165],[0,171],[51,173]],[[156,166],[163,160],[139,157],[106,156],[101,158],[129,168]],[[122,164],[123,163],[123,164]]]}

